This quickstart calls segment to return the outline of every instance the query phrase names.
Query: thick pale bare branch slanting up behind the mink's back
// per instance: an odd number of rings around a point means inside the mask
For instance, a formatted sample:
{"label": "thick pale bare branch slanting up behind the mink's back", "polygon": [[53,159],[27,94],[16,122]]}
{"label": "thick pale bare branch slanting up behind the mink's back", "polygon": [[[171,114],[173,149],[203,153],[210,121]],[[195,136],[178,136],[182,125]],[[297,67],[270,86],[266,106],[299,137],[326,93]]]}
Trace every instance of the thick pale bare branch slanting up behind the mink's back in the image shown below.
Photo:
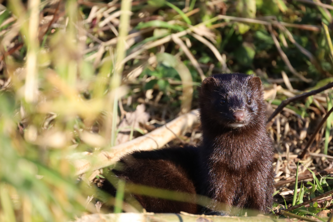
{"label": "thick pale bare branch slanting up behind the mink's back", "polygon": [[153,150],[163,147],[177,135],[185,133],[198,124],[198,110],[179,116],[170,123],[148,134],[135,138],[127,143],[119,144],[98,153],[76,153],[69,157],[76,169],[76,175],[94,171],[115,164],[121,156],[134,150]]}

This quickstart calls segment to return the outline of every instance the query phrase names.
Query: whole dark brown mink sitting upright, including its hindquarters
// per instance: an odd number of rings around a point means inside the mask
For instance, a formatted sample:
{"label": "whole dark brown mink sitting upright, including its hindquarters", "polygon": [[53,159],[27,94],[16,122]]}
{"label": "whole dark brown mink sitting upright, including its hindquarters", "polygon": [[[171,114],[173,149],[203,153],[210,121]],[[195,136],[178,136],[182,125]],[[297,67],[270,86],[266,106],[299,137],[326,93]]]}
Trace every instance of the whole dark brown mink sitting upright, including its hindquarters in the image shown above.
{"label": "whole dark brown mink sitting upright, including its hindquarters", "polygon": [[[265,129],[263,89],[259,77],[241,73],[216,74],[199,90],[202,143],[135,151],[123,156],[113,170],[127,183],[201,194],[210,206],[134,194],[148,212],[210,213],[219,203],[268,212],[273,201],[272,140]],[[114,193],[105,181],[102,190]]]}

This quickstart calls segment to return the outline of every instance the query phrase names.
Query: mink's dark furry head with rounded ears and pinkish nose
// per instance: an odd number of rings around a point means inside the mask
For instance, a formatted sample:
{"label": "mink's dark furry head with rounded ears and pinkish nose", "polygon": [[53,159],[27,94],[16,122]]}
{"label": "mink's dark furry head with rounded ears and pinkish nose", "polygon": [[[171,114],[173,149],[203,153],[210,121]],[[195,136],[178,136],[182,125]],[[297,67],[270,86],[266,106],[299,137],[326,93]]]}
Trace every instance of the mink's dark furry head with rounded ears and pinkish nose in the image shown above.
{"label": "mink's dark furry head with rounded ears and pinkish nose", "polygon": [[241,73],[207,77],[199,88],[199,107],[201,125],[209,131],[263,126],[265,110],[261,80]]}

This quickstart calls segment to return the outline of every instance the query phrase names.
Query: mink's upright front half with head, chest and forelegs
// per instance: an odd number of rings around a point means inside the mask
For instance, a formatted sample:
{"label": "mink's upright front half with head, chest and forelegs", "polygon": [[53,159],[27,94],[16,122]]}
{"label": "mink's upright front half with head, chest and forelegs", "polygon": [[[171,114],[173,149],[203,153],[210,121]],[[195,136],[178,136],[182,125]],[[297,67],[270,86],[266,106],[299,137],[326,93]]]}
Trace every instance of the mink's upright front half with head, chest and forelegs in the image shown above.
{"label": "mink's upright front half with head, chest and forelegs", "polygon": [[260,78],[240,73],[205,78],[199,107],[203,193],[228,206],[269,212],[274,148]]}

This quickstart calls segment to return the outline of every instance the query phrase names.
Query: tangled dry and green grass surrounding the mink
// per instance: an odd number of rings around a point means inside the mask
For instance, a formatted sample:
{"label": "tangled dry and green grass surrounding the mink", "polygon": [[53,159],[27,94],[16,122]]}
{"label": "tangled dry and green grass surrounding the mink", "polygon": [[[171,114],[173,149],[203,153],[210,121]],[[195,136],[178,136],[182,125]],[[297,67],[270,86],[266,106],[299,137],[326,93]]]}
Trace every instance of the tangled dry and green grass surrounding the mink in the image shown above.
{"label": "tangled dry and green grass surrounding the mink", "polygon": [[[195,89],[212,73],[260,76],[270,92],[268,112],[333,80],[330,0],[0,3],[0,221],[96,212],[86,201],[94,191],[76,182],[68,155],[110,149],[126,127],[131,139],[197,108]],[[299,157],[332,107],[327,92],[288,106],[268,129],[278,183],[295,178],[299,160],[300,175],[332,168],[331,118],[310,155]],[[121,128],[139,104],[149,122]],[[179,141],[199,143],[200,132],[173,143]],[[295,205],[330,190],[329,174],[316,178],[299,184],[295,201],[295,183],[277,187],[275,210],[282,197]],[[327,201],[294,213],[329,209]]]}

